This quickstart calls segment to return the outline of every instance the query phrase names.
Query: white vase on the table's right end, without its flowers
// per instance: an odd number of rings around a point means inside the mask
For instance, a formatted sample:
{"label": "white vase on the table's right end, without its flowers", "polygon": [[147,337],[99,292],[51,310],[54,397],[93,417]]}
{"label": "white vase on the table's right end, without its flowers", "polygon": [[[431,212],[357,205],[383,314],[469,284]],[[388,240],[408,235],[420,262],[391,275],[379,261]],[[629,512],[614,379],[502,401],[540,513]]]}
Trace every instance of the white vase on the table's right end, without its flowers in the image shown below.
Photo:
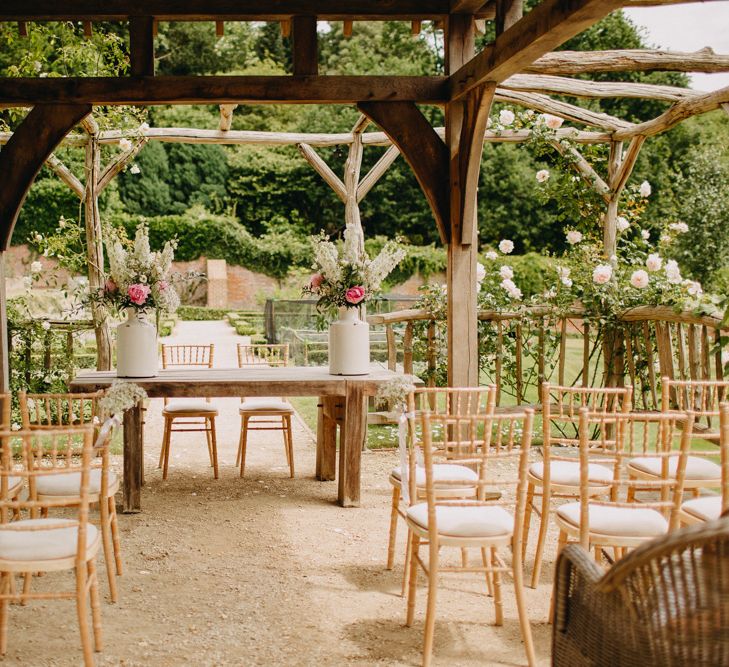
{"label": "white vase on the table's right end, without its flowers", "polygon": [[359,319],[358,308],[340,308],[329,326],[329,373],[367,375],[370,372],[370,325]]}

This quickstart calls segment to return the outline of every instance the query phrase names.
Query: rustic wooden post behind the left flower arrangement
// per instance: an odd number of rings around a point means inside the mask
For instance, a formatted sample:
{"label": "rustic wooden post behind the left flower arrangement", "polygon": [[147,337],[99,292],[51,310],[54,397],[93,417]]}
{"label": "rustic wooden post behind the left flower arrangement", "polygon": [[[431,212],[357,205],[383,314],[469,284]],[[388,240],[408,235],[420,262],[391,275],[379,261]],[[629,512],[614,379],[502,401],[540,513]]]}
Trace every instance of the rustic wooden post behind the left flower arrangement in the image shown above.
{"label": "rustic wooden post behind the left flower arrangement", "polygon": [[[89,290],[94,291],[104,286],[104,246],[102,243],[98,193],[101,156],[98,140],[99,128],[96,122],[87,122],[85,127],[89,131],[89,141],[86,144],[84,220],[86,224]],[[103,307],[92,304],[91,315],[94,320],[94,334],[96,336],[96,368],[100,371],[108,371],[111,369],[111,334],[107,314]]]}

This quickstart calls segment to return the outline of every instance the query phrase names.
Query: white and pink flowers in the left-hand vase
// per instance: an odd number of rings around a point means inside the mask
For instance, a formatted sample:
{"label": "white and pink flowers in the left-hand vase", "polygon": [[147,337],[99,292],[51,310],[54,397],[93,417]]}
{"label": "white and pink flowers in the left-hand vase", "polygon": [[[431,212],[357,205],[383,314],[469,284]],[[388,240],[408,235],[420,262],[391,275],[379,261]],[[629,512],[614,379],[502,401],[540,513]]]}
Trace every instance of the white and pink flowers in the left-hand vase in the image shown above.
{"label": "white and pink flowers in the left-hand vase", "polygon": [[165,313],[177,310],[180,297],[174,282],[179,277],[171,275],[174,241],[167,241],[160,252],[152,252],[149,230],[142,224],[137,227],[131,247],[125,246],[117,236],[107,242],[106,251],[109,275],[103,288],[92,298],[117,312],[125,308],[157,309]]}

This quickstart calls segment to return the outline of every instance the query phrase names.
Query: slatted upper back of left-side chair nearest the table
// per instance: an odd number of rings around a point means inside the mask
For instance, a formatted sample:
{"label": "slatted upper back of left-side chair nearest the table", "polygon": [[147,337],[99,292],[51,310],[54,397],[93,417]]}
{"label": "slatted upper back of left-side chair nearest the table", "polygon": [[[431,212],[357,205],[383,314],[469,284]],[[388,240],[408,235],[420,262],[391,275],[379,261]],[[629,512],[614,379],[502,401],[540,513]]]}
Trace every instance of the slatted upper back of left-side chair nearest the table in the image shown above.
{"label": "slatted upper back of left-side chair nearest the table", "polygon": [[59,426],[98,425],[103,391],[84,394],[18,394],[23,429],[41,431]]}

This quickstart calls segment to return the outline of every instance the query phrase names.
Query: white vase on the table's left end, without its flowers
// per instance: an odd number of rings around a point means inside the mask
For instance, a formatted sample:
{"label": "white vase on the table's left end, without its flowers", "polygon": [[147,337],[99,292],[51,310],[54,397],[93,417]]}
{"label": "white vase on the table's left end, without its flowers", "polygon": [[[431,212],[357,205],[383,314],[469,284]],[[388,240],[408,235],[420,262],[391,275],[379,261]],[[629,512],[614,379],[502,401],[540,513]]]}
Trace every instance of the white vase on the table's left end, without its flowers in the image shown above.
{"label": "white vase on the table's left end, without its flowers", "polygon": [[154,377],[159,372],[157,328],[136,308],[116,329],[116,374],[120,378]]}

